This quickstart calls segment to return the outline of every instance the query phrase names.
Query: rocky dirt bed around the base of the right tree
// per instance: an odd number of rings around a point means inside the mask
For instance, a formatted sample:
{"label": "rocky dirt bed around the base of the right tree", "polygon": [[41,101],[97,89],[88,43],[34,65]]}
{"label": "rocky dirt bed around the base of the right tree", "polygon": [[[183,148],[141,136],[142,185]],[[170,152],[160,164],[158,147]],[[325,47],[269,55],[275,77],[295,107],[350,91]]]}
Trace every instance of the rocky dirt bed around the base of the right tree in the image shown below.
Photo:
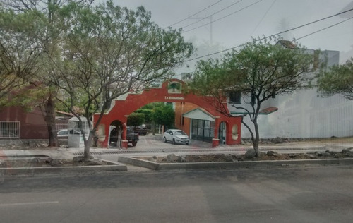
{"label": "rocky dirt bed around the base of the right tree", "polygon": [[177,162],[241,162],[241,161],[261,161],[261,160],[294,160],[294,159],[343,159],[353,158],[352,150],[342,150],[341,152],[312,152],[312,153],[285,153],[280,154],[273,151],[261,152],[259,157],[247,157],[246,155],[232,154],[208,154],[208,155],[182,155],[174,154],[167,157],[136,157],[157,163],[177,163]]}

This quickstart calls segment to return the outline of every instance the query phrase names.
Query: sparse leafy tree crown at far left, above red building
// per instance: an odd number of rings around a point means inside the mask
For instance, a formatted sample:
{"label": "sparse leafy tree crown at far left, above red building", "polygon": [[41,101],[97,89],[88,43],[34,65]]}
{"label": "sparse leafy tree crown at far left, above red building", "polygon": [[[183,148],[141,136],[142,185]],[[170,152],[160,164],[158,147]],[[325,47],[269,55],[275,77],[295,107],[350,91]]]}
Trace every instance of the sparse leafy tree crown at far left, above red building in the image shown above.
{"label": "sparse leafy tree crown at far left, above red building", "polygon": [[30,100],[23,95],[29,91],[28,78],[38,70],[42,22],[35,11],[16,14],[0,8],[0,109]]}

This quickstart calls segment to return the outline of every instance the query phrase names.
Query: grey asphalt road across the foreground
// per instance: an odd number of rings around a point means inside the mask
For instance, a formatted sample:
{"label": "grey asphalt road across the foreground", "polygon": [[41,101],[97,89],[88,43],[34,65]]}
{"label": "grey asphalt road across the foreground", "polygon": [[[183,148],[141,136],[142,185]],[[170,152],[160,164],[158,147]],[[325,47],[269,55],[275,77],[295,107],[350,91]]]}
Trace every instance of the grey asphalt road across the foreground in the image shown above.
{"label": "grey asphalt road across the foreground", "polygon": [[13,176],[1,222],[351,222],[353,167]]}

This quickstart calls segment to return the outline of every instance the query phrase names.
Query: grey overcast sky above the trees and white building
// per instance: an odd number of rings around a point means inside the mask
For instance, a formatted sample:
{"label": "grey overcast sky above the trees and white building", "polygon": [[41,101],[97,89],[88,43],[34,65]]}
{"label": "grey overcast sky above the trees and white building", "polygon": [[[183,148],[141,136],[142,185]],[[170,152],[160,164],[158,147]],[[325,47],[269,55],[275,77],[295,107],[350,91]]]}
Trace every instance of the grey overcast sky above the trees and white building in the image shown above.
{"label": "grey overcast sky above the trees and white building", "polygon": [[[170,25],[173,28],[183,28],[186,40],[196,45],[210,44],[212,40],[215,52],[217,49],[228,49],[249,42],[251,37],[273,35],[353,8],[352,0],[113,1],[128,8],[144,6],[151,11],[152,20],[162,28]],[[198,11],[201,12],[194,15]],[[303,37],[351,17],[353,11],[286,32],[282,36],[287,40]],[[177,23],[181,20],[181,23]],[[213,21],[212,25],[208,24],[210,21]],[[201,25],[204,26],[198,28]],[[307,48],[339,50],[342,64],[353,56],[353,19],[298,41]],[[198,52],[198,56],[203,54]]]}

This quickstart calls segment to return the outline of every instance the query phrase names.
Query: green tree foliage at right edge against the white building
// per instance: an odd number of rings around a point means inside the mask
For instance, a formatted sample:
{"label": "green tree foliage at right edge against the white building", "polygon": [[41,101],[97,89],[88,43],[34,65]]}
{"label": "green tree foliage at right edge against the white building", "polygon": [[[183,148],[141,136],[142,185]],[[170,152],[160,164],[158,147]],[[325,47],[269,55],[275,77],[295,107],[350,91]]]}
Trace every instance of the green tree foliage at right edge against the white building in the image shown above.
{"label": "green tree foliage at right edge against the white building", "polygon": [[341,94],[353,100],[353,57],[345,64],[330,67],[318,76],[318,91],[330,96]]}

